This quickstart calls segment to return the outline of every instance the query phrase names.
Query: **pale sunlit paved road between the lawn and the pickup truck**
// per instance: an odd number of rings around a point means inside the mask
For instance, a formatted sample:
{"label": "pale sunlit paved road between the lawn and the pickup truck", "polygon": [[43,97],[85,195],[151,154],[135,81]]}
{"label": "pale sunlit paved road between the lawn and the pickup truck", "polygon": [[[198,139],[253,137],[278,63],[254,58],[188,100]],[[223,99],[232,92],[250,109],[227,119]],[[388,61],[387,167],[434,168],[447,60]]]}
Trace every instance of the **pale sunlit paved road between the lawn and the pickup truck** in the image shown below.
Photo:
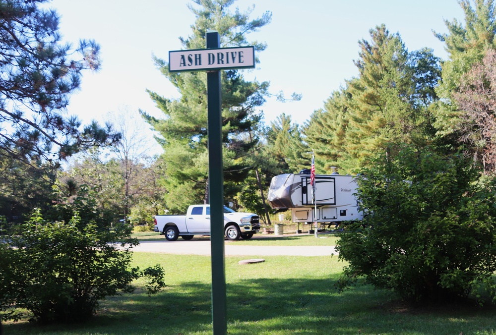
{"label": "pale sunlit paved road between the lawn and the pickup truck", "polygon": [[[179,239],[170,242],[164,239],[164,241],[143,241],[132,250],[164,254],[210,255],[210,247],[210,240]],[[333,246],[251,246],[240,240],[226,241],[224,254],[226,256],[329,256],[337,253]]]}

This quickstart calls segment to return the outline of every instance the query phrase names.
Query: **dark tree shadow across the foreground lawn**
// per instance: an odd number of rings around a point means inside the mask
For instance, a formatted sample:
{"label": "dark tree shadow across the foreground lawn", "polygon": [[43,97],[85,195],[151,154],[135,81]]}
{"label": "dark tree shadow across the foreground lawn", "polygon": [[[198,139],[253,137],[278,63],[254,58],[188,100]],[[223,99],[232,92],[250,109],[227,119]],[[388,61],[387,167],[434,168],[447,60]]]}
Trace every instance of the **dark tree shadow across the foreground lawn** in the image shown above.
{"label": "dark tree shadow across the foreground lawn", "polygon": [[[331,279],[246,279],[227,284],[229,334],[494,334],[494,308],[412,309],[387,291],[337,293]],[[88,323],[15,324],[5,334],[211,334],[211,287],[183,282],[102,302]]]}

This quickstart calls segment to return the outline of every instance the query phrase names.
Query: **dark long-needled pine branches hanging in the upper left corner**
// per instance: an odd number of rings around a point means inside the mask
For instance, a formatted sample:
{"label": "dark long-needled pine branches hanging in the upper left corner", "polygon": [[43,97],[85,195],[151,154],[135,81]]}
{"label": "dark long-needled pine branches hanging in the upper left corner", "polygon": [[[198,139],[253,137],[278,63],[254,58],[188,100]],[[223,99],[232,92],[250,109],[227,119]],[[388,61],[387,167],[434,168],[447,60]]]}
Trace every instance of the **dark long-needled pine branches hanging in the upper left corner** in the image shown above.
{"label": "dark long-needled pine branches hanging in the upper left corner", "polygon": [[81,122],[64,115],[82,71],[98,68],[99,46],[82,40],[73,51],[62,44],[59,16],[41,9],[44,2],[0,2],[0,155],[28,164],[119,139],[110,126],[92,123],[80,131]]}

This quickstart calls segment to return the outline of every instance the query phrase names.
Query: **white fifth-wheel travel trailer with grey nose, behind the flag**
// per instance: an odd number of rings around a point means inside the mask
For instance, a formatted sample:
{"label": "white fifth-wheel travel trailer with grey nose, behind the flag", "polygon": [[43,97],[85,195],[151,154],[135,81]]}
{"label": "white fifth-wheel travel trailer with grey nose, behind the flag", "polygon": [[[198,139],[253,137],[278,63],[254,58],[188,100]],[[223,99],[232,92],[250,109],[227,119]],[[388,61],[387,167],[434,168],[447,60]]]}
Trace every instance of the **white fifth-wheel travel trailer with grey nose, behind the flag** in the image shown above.
{"label": "white fifth-wheel travel trailer with grey nose, behind the flag", "polygon": [[[321,223],[321,226],[325,226],[324,223],[337,225],[341,221],[363,218],[354,195],[357,190],[355,178],[337,173],[315,175],[317,223]],[[270,183],[267,200],[272,209],[291,210],[293,222],[315,222],[315,205],[308,173],[276,175]]]}

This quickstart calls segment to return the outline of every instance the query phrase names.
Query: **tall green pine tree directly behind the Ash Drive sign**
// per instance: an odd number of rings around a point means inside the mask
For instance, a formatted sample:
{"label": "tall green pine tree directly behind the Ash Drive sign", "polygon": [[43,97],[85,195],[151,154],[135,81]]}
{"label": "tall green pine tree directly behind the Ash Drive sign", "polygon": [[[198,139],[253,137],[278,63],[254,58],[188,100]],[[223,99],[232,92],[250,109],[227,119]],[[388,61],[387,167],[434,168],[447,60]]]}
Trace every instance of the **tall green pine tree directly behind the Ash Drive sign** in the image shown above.
{"label": "tall green pine tree directly behind the Ash Drive sign", "polygon": [[[247,35],[270,22],[266,12],[250,20],[250,12],[234,13],[228,9],[234,0],[196,0],[189,5],[196,21],[192,34],[181,38],[184,49],[204,49],[205,34],[216,30],[221,37],[221,47],[253,45],[255,52],[265,49],[263,43],[247,40]],[[181,93],[179,99],[162,97],[149,92],[151,99],[164,112],[164,118],[142,115],[160,134],[158,141],[164,148],[161,159],[165,162],[164,182],[168,193],[166,205],[172,212],[181,212],[190,204],[207,201],[208,196],[208,143],[206,74],[204,72],[171,73],[168,63],[155,58],[164,76]],[[252,129],[255,108],[264,103],[268,83],[246,81],[242,72],[222,71],[222,132],[224,146],[224,193],[227,198],[238,192],[237,183],[249,171],[247,153],[258,139],[247,140]]]}

